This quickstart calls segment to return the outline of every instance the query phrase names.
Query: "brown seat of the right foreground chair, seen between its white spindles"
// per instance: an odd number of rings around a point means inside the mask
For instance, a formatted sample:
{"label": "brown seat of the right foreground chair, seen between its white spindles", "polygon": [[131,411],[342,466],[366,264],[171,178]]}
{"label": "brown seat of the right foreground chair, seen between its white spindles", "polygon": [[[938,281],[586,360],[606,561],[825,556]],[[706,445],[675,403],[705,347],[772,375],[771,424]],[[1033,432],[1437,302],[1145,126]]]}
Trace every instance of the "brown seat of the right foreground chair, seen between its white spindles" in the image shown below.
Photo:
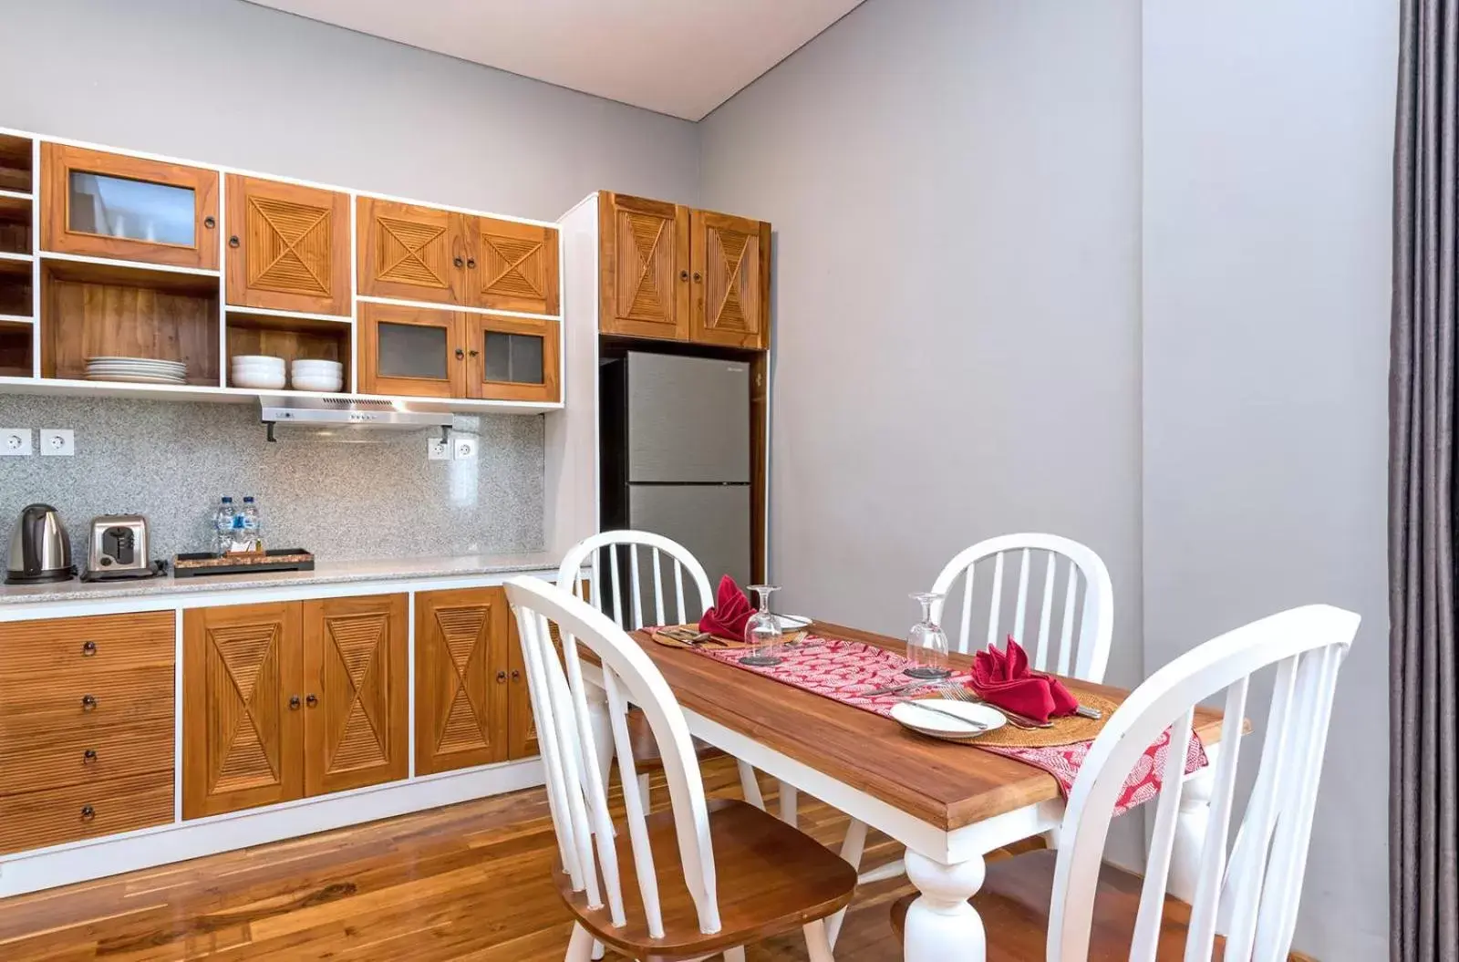
{"label": "brown seat of the right foreground chair, seen between its white spindles", "polygon": [[[973,907],[988,933],[988,962],[1032,962],[1045,958],[1049,931],[1049,901],[1053,892],[1055,851],[1032,851],[988,864],[983,888],[973,896]],[[1126,962],[1139,909],[1138,874],[1110,864],[1100,869],[1094,896],[1094,926],[1090,933],[1088,962]],[[902,937],[907,907],[915,895],[891,907],[891,927]],[[1157,962],[1185,959],[1186,927],[1191,907],[1167,895],[1160,926]],[[1221,959],[1226,940],[1217,937],[1212,959]]]}

